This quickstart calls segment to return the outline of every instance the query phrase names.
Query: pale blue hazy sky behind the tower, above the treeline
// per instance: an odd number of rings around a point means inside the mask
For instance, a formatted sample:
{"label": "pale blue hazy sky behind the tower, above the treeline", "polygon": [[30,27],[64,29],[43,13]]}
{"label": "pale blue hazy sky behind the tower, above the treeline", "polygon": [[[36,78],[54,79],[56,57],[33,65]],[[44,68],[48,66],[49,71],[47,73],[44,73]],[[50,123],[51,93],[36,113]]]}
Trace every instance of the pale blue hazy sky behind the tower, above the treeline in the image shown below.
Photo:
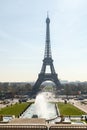
{"label": "pale blue hazy sky behind the tower, above the treeline", "polygon": [[36,81],[47,11],[58,78],[87,81],[87,0],[0,0],[0,81]]}

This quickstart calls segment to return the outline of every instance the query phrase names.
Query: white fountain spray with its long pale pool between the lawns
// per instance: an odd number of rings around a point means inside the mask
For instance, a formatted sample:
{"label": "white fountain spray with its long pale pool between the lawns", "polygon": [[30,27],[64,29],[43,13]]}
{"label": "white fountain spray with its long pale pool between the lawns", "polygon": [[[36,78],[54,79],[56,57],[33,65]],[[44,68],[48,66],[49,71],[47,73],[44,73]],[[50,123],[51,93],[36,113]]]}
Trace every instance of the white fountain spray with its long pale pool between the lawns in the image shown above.
{"label": "white fountain spray with its long pale pool between the lawns", "polygon": [[44,118],[46,120],[57,117],[56,105],[48,102],[48,93],[40,93],[36,96],[35,103],[21,115],[20,118]]}

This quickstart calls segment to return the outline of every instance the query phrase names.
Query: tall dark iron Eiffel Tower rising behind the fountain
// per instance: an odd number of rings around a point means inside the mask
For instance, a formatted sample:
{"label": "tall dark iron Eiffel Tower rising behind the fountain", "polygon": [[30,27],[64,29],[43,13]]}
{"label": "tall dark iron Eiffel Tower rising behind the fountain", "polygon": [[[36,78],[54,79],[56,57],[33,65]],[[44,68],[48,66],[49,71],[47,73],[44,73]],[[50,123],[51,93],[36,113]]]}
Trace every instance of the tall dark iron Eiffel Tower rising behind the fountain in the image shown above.
{"label": "tall dark iron Eiffel Tower rising behind the fountain", "polygon": [[[60,88],[60,82],[58,80],[57,74],[55,72],[54,69],[54,65],[53,65],[53,59],[52,59],[52,54],[51,54],[51,45],[50,45],[50,19],[47,15],[46,18],[46,43],[45,43],[45,54],[44,54],[44,59],[43,59],[43,65],[41,68],[41,72],[38,75],[38,79],[35,82],[34,86],[33,86],[33,90],[32,92],[38,93],[39,92],[39,88],[40,85],[44,82],[44,81],[52,81],[55,83],[56,88]],[[46,67],[49,66],[50,67],[50,72],[51,73],[46,73]]]}

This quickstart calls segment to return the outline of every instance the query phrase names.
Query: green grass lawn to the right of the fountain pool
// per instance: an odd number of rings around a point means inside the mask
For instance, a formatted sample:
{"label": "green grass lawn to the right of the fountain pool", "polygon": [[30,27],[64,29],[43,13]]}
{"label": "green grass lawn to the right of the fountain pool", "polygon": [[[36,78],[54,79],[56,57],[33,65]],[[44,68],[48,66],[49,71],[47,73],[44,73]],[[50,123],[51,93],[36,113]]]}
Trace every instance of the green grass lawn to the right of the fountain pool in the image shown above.
{"label": "green grass lawn to the right of the fountain pool", "polygon": [[81,111],[80,109],[76,108],[72,104],[64,104],[62,102],[58,103],[58,108],[60,111],[60,115],[84,115],[85,112]]}

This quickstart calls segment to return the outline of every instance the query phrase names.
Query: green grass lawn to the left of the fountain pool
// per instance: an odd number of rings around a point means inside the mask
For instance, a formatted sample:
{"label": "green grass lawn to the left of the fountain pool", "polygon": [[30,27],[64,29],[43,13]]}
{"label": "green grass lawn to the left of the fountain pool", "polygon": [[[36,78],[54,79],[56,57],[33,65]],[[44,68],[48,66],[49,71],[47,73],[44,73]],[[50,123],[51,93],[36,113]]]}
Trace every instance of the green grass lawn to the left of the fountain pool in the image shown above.
{"label": "green grass lawn to the left of the fountain pool", "polygon": [[0,110],[0,115],[15,115],[18,117],[28,106],[30,103],[17,103],[15,105],[7,106]]}

